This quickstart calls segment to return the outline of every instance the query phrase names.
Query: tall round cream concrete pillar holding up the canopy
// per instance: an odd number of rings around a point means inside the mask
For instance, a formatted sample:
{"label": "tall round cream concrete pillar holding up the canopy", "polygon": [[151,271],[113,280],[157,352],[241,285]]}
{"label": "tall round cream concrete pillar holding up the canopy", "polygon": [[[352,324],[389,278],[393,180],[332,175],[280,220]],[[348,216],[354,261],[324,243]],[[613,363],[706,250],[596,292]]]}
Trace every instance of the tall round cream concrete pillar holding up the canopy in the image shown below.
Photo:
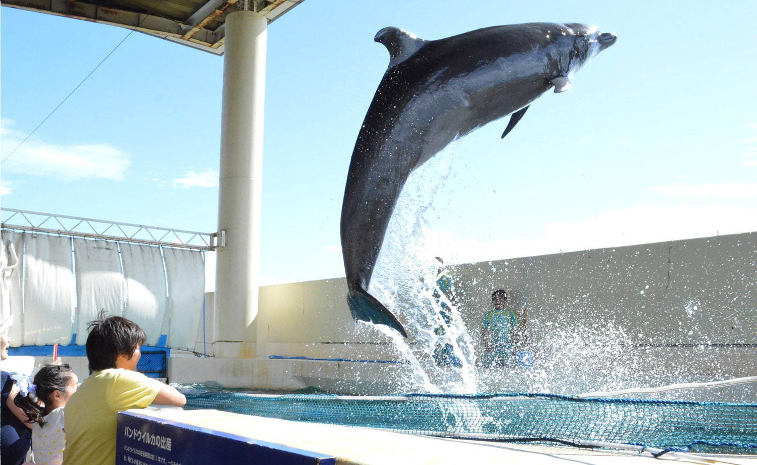
{"label": "tall round cream concrete pillar holding up the canopy", "polygon": [[217,253],[215,352],[251,357],[260,274],[265,17],[229,14],[224,48],[218,230],[226,231],[226,246]]}

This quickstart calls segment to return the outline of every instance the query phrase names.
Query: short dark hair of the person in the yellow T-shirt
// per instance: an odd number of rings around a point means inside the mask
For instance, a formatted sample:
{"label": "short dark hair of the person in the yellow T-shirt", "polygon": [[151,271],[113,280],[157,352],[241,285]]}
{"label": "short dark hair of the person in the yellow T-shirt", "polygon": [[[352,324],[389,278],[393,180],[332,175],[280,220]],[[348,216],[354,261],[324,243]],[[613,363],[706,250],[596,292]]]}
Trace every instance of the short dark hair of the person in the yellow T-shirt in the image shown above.
{"label": "short dark hair of the person in the yellow T-shirt", "polygon": [[104,311],[100,312],[97,320],[87,324],[87,330],[90,372],[115,368],[118,355],[131,356],[137,346],[142,346],[147,340],[139,324],[114,315],[106,317]]}

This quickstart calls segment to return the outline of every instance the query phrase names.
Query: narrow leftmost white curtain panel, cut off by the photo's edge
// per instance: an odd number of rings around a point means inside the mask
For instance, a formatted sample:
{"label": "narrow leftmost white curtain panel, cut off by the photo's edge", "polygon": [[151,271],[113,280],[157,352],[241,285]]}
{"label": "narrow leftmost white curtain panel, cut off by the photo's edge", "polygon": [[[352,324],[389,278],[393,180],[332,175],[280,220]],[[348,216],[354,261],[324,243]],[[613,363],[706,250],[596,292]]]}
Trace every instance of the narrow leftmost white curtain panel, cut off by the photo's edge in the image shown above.
{"label": "narrow leftmost white curtain panel, cut off by the photo's edge", "polygon": [[2,231],[2,281],[0,281],[0,321],[14,315],[14,325],[8,331],[12,346],[23,341],[23,233]]}

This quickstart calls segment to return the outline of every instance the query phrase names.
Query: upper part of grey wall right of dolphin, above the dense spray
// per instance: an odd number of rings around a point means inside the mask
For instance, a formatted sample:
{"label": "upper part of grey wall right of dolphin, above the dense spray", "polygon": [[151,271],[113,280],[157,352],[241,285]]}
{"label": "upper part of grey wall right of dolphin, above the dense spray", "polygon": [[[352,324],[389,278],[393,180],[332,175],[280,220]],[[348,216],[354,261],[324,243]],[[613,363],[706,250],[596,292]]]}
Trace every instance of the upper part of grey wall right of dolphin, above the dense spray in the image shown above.
{"label": "upper part of grey wall right of dolphin, above the dense spray", "polygon": [[469,327],[503,288],[536,340],[552,325],[611,323],[629,343],[757,343],[757,233],[479,262],[452,274]]}

